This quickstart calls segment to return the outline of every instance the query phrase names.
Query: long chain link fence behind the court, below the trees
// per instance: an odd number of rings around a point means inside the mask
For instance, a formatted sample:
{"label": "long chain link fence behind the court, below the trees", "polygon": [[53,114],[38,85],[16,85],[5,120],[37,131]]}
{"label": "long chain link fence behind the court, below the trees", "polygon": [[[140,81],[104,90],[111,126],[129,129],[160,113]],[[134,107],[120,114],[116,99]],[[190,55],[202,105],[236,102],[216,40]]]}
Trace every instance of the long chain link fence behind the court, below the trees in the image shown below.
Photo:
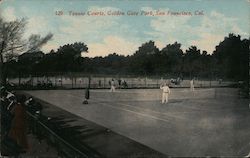
{"label": "long chain link fence behind the court, below the trees", "polygon": [[[8,78],[8,84],[20,89],[81,89],[90,87],[92,89],[110,88],[111,80],[114,80],[116,88],[159,88],[167,82],[170,87],[190,87],[190,78],[180,79],[160,76],[118,76],[118,75],[82,75],[70,74],[45,74],[20,76]],[[230,87],[237,83],[224,81],[222,79],[199,79],[195,78],[196,88]]]}

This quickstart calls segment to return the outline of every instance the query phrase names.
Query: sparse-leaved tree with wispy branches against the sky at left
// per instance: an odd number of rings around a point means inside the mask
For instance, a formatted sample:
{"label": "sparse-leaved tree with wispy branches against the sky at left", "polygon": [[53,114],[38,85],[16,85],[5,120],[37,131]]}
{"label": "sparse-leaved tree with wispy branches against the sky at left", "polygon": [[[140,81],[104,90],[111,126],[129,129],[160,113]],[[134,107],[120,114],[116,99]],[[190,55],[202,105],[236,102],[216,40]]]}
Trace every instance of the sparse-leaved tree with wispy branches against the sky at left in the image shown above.
{"label": "sparse-leaved tree with wispy branches against the sky at left", "polygon": [[20,53],[38,50],[52,38],[52,34],[44,38],[32,35],[29,40],[23,40],[26,23],[25,19],[6,22],[0,17],[0,85],[6,83],[4,62],[15,58]]}

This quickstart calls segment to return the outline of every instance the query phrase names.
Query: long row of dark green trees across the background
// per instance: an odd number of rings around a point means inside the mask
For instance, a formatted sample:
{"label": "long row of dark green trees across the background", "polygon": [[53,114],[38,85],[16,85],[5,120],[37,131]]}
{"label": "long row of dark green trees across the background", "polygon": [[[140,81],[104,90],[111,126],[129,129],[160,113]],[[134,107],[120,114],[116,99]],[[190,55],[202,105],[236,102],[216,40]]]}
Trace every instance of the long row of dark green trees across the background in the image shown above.
{"label": "long row of dark green trees across the background", "polygon": [[246,80],[249,71],[249,39],[229,34],[212,54],[190,46],[185,52],[181,43],[168,44],[161,50],[154,41],[143,43],[130,56],[109,54],[106,57],[88,58],[83,42],[66,44],[45,54],[42,51],[26,52],[5,63],[9,76],[52,72],[81,72],[95,74],[132,74],[145,76],[217,77]]}

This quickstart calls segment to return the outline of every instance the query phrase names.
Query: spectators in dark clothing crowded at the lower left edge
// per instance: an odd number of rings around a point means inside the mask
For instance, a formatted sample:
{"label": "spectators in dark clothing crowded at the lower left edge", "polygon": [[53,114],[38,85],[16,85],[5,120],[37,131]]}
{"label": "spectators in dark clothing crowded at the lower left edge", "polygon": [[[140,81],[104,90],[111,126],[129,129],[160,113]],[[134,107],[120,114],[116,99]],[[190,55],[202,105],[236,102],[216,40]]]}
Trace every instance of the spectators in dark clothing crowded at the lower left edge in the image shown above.
{"label": "spectators in dark clothing crowded at the lower left edge", "polygon": [[2,154],[13,155],[28,151],[25,95],[1,87]]}

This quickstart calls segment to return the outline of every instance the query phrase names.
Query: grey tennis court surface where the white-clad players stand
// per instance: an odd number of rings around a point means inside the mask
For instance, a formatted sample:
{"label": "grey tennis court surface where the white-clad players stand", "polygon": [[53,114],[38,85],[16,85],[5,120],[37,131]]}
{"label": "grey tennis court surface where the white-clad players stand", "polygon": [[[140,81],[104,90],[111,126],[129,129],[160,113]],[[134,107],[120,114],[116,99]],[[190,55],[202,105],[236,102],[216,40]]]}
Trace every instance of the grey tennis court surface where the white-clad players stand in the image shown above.
{"label": "grey tennis court surface where the white-clad players stand", "polygon": [[75,115],[171,156],[245,156],[250,151],[248,100],[237,89],[172,88],[168,104],[160,89],[27,91]]}

